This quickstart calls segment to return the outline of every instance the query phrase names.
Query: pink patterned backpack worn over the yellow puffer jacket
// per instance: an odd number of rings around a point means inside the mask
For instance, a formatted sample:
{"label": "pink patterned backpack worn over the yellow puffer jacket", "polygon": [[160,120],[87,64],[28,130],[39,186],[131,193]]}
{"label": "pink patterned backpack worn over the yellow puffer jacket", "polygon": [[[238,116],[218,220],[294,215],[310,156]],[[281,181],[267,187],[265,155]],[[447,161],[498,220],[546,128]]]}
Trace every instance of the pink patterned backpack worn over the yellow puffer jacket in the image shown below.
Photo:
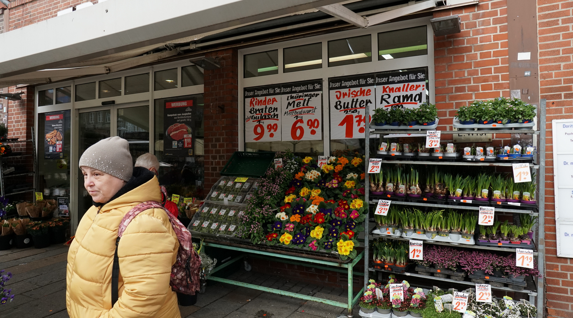
{"label": "pink patterned backpack worn over the yellow puffer jacket", "polygon": [[201,259],[193,249],[193,244],[191,244],[191,233],[189,233],[189,230],[187,230],[187,228],[179,222],[173,214],[164,209],[159,202],[147,201],[140,203],[133,209],[129,210],[129,212],[124,215],[123,219],[121,219],[121,223],[119,223],[111,278],[112,307],[119,296],[119,257],[117,257],[117,246],[119,245],[119,240],[121,239],[121,235],[123,235],[125,228],[129,225],[129,222],[131,222],[131,220],[140,212],[148,209],[165,210],[169,217],[169,222],[171,222],[171,227],[173,227],[173,231],[175,231],[175,235],[177,235],[179,250],[177,251],[177,260],[171,267],[171,280],[169,285],[171,285],[171,288],[177,292],[177,297],[180,303],[182,303],[182,299],[185,299],[185,295],[195,295],[195,292],[199,290]]}

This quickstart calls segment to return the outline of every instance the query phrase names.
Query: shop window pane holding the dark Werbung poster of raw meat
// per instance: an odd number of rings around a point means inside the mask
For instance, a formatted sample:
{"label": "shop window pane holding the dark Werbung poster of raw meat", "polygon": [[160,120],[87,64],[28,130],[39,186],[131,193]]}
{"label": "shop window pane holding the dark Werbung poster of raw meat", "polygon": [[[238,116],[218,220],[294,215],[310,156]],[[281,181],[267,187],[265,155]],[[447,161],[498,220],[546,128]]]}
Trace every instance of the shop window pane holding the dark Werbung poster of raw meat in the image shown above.
{"label": "shop window pane holding the dark Werbung poster of raw meat", "polygon": [[[170,111],[190,112],[190,116],[166,117]],[[154,154],[161,164],[159,183],[166,186],[168,195],[202,199],[206,195],[203,193],[203,94],[156,99],[154,113]]]}

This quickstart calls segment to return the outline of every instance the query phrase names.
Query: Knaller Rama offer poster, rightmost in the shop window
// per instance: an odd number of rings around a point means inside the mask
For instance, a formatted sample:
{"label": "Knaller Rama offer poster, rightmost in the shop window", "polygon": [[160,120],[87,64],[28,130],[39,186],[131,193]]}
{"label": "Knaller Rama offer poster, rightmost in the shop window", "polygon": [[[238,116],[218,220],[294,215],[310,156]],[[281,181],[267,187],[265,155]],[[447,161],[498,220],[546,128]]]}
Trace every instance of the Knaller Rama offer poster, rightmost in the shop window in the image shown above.
{"label": "Knaller Rama offer poster, rightmost in the shop window", "polygon": [[376,74],[376,108],[417,108],[426,101],[426,70]]}

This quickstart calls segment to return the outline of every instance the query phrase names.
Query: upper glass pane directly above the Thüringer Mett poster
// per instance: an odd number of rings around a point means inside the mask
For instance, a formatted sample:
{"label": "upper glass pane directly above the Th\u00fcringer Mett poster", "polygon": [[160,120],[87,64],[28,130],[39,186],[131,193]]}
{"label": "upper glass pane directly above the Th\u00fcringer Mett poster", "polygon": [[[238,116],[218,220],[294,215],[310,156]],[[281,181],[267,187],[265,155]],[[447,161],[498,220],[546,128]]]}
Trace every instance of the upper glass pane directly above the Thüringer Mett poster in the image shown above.
{"label": "upper glass pane directly above the Th\u00fcringer Mett poster", "polygon": [[322,68],[322,43],[286,48],[283,56],[285,73]]}

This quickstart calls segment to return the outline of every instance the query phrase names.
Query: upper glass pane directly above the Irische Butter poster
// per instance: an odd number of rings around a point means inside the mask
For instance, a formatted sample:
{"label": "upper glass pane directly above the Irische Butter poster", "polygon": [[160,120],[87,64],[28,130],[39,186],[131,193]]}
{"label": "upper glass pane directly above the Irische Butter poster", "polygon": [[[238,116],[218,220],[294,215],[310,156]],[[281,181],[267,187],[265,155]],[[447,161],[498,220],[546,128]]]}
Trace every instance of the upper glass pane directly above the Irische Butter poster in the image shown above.
{"label": "upper glass pane directly above the Irische Butter poster", "polygon": [[370,34],[328,41],[328,66],[372,61]]}

